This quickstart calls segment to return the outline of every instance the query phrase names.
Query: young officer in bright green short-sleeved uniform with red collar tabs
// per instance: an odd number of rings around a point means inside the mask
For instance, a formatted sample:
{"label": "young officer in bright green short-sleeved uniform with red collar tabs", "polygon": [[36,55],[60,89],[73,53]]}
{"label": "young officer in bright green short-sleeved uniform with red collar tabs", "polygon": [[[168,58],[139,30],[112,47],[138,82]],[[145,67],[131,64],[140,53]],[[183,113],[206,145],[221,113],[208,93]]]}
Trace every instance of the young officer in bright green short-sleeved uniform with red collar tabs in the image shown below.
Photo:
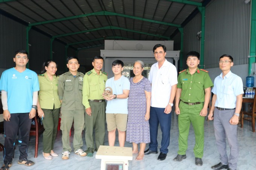
{"label": "young officer in bright green short-sleeved uniform with red collar tabs", "polygon": [[211,95],[212,80],[208,71],[199,69],[200,54],[190,51],[187,54],[187,66],[179,72],[178,85],[175,96],[175,113],[178,115],[179,150],[174,161],[186,159],[187,137],[190,122],[195,132],[195,164],[203,165],[204,152],[204,117]]}

